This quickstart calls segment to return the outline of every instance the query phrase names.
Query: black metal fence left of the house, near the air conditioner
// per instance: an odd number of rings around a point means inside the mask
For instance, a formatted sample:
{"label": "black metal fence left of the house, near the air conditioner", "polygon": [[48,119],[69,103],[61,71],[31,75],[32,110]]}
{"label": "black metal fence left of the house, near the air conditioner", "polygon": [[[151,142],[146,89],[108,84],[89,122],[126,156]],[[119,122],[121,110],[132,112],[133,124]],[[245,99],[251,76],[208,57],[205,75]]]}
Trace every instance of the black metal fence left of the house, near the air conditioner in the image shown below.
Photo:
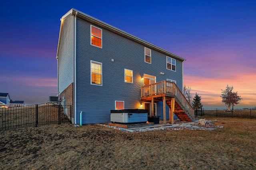
{"label": "black metal fence left of the house, near the air conditioner", "polygon": [[0,108],[0,131],[18,127],[71,123],[72,107],[46,103]]}

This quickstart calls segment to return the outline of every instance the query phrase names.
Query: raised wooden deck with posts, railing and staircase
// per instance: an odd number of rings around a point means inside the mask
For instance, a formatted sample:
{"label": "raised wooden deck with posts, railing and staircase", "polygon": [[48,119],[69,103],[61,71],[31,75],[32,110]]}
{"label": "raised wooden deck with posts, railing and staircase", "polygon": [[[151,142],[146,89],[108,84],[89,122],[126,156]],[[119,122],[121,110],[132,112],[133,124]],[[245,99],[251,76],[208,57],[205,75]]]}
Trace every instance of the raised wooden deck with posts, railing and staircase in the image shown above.
{"label": "raised wooden deck with posts, railing and staircase", "polygon": [[[154,101],[163,101],[164,123],[166,123],[166,105],[169,107],[172,123],[174,114],[181,121],[194,121],[194,109],[174,82],[162,81],[141,87],[140,100],[152,102],[152,106]],[[154,113],[154,107],[151,110]]]}

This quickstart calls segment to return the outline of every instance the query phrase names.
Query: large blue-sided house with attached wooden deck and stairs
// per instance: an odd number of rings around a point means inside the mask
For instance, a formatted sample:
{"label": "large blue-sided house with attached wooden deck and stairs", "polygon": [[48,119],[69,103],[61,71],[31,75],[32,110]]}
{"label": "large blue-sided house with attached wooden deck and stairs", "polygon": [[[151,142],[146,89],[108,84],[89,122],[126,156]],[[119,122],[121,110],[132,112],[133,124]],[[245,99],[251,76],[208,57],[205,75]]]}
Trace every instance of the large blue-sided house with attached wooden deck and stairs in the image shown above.
{"label": "large blue-sided house with attached wooden deck and stairs", "polygon": [[104,123],[110,110],[135,108],[194,121],[180,91],[185,59],[92,16],[73,8],[62,16],[56,59],[58,97],[75,124],[81,112],[82,124]]}

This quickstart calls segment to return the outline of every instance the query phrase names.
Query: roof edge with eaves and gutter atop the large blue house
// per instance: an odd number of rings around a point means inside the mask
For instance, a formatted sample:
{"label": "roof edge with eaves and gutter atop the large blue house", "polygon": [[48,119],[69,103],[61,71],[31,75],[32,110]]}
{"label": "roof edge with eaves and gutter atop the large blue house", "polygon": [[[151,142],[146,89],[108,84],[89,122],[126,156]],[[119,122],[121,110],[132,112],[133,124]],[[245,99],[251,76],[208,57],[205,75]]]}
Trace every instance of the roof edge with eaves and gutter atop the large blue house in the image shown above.
{"label": "roof edge with eaves and gutter atop the large blue house", "polygon": [[74,8],[72,8],[71,10],[69,10],[64,16],[62,16],[61,18],[61,24],[60,24],[60,33],[59,33],[59,39],[58,39],[58,47],[57,47],[57,54],[56,54],[56,59],[58,59],[58,53],[59,53],[59,47],[60,47],[60,35],[61,35],[61,32],[62,32],[62,24],[63,24],[63,20],[68,17],[68,16],[75,16],[75,17],[78,17],[78,18],[82,18],[83,20],[86,20],[88,22],[91,22],[95,25],[98,25],[104,29],[107,29],[109,31],[112,31],[118,35],[121,35],[122,37],[126,37],[128,39],[131,39],[132,41],[135,41],[137,43],[140,43],[148,48],[151,48],[151,49],[154,49],[156,51],[160,51],[161,53],[164,53],[165,55],[168,55],[169,57],[173,57],[175,59],[178,59],[180,61],[186,61],[186,59],[178,56],[178,55],[175,55],[174,53],[171,53],[169,51],[166,51],[165,49],[162,49],[152,43],[149,43],[147,41],[144,41],[143,39],[140,39],[138,37],[135,37],[134,35],[131,35],[125,31],[122,31],[121,29],[118,29],[112,25],[109,25],[108,23],[105,23],[103,21],[100,21],[92,16],[89,16],[88,14],[85,14],[83,12],[80,12]]}

